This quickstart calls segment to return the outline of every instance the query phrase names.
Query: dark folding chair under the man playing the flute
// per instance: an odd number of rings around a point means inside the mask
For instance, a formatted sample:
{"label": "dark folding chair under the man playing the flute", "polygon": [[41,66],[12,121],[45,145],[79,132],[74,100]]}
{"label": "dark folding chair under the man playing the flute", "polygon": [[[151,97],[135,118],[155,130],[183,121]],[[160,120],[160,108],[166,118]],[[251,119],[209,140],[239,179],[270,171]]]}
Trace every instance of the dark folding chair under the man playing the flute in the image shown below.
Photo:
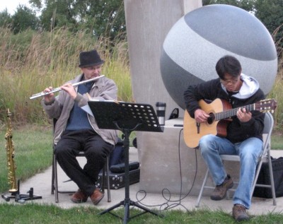
{"label": "dark folding chair under the man playing the flute", "polygon": [[[57,120],[53,119],[53,129],[56,124]],[[53,145],[54,146],[54,145]],[[52,161],[52,179],[51,179],[51,194],[55,194],[55,202],[59,202],[58,194],[73,194],[75,191],[59,191],[58,189],[58,176],[57,176],[57,158],[54,154],[54,147],[53,147],[53,161]],[[85,157],[85,153],[83,151],[80,151],[77,157]],[[110,155],[106,158],[105,166],[103,167],[103,177],[102,177],[102,183],[101,183],[101,190],[104,194],[104,183],[103,180],[105,179],[105,172],[106,172],[106,181],[107,181],[107,193],[108,193],[108,202],[111,201],[111,195],[110,195],[110,177],[109,177],[109,160]]]}

